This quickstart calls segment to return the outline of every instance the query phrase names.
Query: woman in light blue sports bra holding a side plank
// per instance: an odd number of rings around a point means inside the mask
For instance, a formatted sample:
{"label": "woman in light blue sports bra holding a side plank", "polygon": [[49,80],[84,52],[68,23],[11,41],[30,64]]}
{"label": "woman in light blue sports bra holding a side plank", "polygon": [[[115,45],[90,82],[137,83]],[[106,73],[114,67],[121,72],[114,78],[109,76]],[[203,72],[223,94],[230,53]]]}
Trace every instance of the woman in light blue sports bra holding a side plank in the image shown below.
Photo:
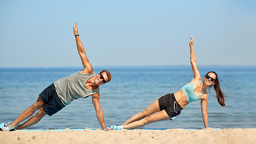
{"label": "woman in light blue sports bra holding a side plank", "polygon": [[[196,56],[194,55],[193,50],[193,38],[192,36],[190,36],[190,38],[190,62],[194,76],[191,82],[183,86],[174,94],[167,94],[158,98],[158,100],[150,104],[150,106],[148,106],[145,110],[137,113],[136,115],[132,116],[132,118],[128,119],[128,121],[124,122],[123,125],[111,125],[110,127],[113,130],[122,130],[123,128],[140,128],[153,122],[174,118],[181,113],[181,110],[184,109],[188,103],[196,100],[201,100],[203,123],[205,124],[205,128],[208,128],[208,95],[206,88],[209,86],[214,86],[217,100],[221,106],[225,106],[225,95],[220,89],[218,76],[214,71],[207,73],[205,77],[203,77],[202,82],[200,73],[196,66]],[[155,114],[152,115],[153,113]]]}

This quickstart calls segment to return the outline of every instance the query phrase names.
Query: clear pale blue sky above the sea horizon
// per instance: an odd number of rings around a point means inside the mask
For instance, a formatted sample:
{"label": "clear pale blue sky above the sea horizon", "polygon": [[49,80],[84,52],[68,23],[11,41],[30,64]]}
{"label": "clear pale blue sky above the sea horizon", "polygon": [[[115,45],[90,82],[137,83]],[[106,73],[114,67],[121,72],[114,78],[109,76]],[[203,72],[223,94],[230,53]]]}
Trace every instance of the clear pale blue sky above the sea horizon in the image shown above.
{"label": "clear pale blue sky above the sea horizon", "polygon": [[0,67],[256,65],[256,1],[1,1]]}

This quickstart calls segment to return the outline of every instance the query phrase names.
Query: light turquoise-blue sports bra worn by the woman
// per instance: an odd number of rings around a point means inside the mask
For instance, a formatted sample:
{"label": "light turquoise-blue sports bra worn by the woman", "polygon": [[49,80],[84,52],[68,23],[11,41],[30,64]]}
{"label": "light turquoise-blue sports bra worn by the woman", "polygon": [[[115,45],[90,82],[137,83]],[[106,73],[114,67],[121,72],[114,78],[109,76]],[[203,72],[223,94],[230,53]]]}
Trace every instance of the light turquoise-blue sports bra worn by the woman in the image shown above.
{"label": "light turquoise-blue sports bra worn by the woman", "polygon": [[[202,81],[199,81],[199,82],[202,82]],[[196,82],[196,83],[199,83],[199,82]],[[194,84],[196,84],[196,83],[194,83]],[[199,96],[197,96],[194,93],[194,88],[193,88],[194,84],[187,84],[181,88],[181,90],[184,92],[184,94],[186,95],[186,97],[188,99],[188,103],[199,100],[199,97],[206,92],[205,91],[202,94],[200,94]]]}

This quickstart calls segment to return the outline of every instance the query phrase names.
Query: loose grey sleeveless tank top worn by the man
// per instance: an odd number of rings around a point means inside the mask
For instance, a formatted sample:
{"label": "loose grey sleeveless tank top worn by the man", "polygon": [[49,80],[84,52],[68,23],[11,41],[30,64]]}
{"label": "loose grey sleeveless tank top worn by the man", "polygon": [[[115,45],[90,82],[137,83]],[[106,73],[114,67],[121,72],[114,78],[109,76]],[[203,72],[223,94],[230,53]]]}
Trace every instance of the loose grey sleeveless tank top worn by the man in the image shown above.
{"label": "loose grey sleeveless tank top worn by the man", "polygon": [[62,103],[66,106],[77,98],[87,98],[89,95],[100,92],[100,86],[92,90],[85,86],[87,80],[94,76],[96,76],[95,72],[89,74],[77,72],[54,82],[57,95]]}

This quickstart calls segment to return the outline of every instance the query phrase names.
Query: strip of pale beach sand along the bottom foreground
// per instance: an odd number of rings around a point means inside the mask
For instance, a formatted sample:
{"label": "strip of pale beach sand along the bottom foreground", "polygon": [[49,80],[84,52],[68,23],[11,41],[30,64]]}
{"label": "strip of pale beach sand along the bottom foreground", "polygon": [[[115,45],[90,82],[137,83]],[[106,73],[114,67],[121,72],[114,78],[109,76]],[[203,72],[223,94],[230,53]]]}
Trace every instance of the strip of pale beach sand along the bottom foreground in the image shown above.
{"label": "strip of pale beach sand along the bottom foreground", "polygon": [[256,128],[0,131],[0,143],[256,143]]}

